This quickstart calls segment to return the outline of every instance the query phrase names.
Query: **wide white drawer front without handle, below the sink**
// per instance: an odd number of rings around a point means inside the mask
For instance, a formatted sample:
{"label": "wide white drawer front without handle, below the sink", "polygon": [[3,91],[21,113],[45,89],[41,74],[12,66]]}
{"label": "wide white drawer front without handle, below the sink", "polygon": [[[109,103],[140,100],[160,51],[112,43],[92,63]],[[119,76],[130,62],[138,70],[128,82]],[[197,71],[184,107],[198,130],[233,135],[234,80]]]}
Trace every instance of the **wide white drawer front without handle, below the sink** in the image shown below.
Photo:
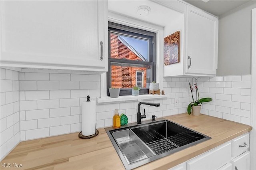
{"label": "wide white drawer front without handle, below the sink", "polygon": [[231,160],[231,142],[226,142],[187,162],[187,170],[212,170]]}

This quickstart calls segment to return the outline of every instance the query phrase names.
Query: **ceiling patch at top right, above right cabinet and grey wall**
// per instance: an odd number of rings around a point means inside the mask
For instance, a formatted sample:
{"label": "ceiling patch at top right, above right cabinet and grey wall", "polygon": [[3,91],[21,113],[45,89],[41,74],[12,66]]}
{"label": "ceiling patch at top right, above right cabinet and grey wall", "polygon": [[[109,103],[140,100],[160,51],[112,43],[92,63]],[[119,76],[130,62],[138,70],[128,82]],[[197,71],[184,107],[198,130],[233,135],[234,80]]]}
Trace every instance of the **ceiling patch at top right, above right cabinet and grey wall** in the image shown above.
{"label": "ceiling patch at top right, above right cabinet and grey wall", "polygon": [[245,4],[251,0],[209,0],[204,2],[203,0],[184,0],[202,10],[220,16],[242,4]]}

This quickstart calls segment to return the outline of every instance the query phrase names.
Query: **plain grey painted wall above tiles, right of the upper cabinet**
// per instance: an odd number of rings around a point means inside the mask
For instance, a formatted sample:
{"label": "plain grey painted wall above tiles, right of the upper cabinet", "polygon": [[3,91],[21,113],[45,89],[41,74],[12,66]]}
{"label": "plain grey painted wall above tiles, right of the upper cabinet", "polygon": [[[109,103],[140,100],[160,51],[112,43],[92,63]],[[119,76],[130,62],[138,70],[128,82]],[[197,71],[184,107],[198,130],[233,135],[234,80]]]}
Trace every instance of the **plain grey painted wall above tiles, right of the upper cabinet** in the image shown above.
{"label": "plain grey painted wall above tiles, right of the upper cabinet", "polygon": [[252,0],[219,16],[217,75],[251,74]]}

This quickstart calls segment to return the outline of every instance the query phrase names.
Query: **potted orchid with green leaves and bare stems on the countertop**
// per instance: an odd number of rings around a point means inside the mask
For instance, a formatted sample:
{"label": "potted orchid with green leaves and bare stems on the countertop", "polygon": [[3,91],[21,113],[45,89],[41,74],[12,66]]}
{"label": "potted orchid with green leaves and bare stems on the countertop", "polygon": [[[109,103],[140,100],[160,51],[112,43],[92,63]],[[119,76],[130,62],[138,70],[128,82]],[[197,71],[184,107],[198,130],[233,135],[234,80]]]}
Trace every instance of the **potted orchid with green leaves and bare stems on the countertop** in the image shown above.
{"label": "potted orchid with green leaves and bare stems on the countertop", "polygon": [[[192,100],[193,102],[191,102],[189,105],[188,105],[188,115],[191,114],[191,111],[193,111],[193,115],[197,115],[199,116],[200,115],[200,109],[201,109],[201,103],[204,103],[204,102],[209,102],[209,101],[212,101],[212,98],[210,97],[206,97],[206,98],[199,98],[199,91],[198,91],[198,87],[197,87],[197,84],[195,83],[194,84],[194,88],[196,89],[196,100],[194,100],[194,97],[193,97],[193,86],[190,84],[190,82],[188,81],[189,83],[189,86],[190,86],[190,91],[191,91],[191,94],[192,94]],[[196,107],[198,106],[198,108],[196,109]],[[198,110],[198,112],[196,113],[196,110]]]}

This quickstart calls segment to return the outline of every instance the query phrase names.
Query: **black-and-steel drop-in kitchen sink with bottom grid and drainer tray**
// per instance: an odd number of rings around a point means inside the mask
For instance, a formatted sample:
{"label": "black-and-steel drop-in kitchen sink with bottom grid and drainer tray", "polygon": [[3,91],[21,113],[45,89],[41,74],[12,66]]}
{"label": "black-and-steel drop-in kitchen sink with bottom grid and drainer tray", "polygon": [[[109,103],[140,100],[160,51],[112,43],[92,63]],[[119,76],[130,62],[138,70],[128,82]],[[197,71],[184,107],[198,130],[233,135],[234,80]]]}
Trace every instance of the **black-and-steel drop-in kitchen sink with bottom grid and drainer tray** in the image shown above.
{"label": "black-and-steel drop-in kitchen sink with bottom grid and drainer tray", "polygon": [[126,169],[142,166],[210,139],[209,136],[166,119],[105,130]]}

